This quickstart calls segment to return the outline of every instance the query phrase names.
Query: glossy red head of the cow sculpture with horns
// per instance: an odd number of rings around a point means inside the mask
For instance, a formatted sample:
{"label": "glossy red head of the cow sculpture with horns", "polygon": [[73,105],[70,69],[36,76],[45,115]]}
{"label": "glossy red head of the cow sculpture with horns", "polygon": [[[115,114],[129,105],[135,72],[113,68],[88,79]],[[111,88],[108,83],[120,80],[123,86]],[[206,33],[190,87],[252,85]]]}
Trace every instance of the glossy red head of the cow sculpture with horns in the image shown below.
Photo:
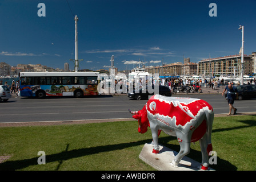
{"label": "glossy red head of the cow sculpture with horns", "polygon": [[147,110],[146,110],[146,106],[143,107],[142,110],[139,111],[131,111],[129,109],[129,112],[133,115],[134,119],[137,119],[139,122],[139,128],[138,128],[138,132],[139,133],[145,133],[147,131],[147,127],[150,126],[149,125],[149,119],[147,119]]}

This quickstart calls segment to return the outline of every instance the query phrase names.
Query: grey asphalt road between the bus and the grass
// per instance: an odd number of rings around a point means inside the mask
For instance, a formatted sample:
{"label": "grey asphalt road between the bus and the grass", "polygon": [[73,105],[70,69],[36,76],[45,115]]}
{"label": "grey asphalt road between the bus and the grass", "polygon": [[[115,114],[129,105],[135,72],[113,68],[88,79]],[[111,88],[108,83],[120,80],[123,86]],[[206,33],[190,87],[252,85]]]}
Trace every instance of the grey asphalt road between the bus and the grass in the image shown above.
{"label": "grey asphalt road between the bus and the grass", "polygon": [[[201,98],[213,106],[215,114],[229,112],[221,94],[188,94],[174,97]],[[235,101],[238,113],[256,110],[256,100]],[[83,119],[131,118],[128,109],[141,110],[147,100],[130,100],[127,96],[21,98],[0,103],[0,122],[75,121]]]}

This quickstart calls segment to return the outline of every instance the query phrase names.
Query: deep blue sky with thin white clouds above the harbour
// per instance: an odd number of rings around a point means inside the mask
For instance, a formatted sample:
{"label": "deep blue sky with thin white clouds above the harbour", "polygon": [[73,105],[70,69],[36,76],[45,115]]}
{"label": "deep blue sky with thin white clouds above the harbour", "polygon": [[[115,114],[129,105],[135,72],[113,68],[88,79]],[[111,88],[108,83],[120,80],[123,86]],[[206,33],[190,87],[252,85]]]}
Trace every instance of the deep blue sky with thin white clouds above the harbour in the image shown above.
{"label": "deep blue sky with thin white clouds above the harbour", "polygon": [[[45,16],[39,3],[45,4]],[[215,10],[210,3],[215,3]],[[0,0],[0,62],[119,71],[256,51],[256,0]],[[141,64],[142,66],[142,64]]]}

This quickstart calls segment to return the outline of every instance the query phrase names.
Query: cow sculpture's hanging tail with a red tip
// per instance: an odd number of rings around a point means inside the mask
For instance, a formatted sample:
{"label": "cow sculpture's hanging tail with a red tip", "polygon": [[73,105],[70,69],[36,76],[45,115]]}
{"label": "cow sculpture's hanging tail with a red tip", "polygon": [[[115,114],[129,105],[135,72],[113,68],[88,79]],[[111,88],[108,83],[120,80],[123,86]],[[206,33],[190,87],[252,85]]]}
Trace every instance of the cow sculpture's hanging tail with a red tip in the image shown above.
{"label": "cow sculpture's hanging tail with a red tip", "polygon": [[207,110],[206,112],[206,122],[207,122],[207,130],[206,130],[206,138],[207,138],[207,152],[210,155],[210,151],[213,151],[213,146],[211,144],[211,131],[213,130],[213,119],[214,119],[214,111]]}

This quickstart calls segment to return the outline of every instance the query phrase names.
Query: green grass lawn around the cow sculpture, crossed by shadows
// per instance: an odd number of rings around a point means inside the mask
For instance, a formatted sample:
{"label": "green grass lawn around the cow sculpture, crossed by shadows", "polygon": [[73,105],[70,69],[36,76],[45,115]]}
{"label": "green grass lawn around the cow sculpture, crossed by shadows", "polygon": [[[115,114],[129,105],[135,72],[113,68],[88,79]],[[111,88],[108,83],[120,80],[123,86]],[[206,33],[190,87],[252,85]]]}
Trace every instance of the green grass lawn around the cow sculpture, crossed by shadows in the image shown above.
{"label": "green grass lawn around the cow sculpture, crossed by shadows", "polygon": [[[0,170],[154,170],[138,158],[151,142],[151,131],[139,134],[137,129],[137,121],[0,127],[0,156],[11,155]],[[255,115],[215,118],[212,143],[218,158],[210,167],[255,170],[255,131]],[[179,151],[175,137],[161,133],[159,143]],[[38,151],[45,151],[45,165],[38,165]],[[201,162],[198,142],[187,156]]]}

